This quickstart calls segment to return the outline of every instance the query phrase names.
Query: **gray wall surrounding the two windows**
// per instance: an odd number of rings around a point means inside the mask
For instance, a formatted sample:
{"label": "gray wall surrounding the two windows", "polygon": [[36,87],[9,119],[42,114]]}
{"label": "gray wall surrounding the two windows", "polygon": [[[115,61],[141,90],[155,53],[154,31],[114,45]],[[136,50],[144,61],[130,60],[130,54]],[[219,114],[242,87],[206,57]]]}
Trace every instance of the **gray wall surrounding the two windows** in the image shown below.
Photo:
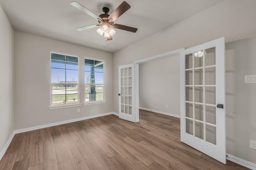
{"label": "gray wall surrounding the two windows", "polygon": [[[112,112],[112,53],[90,49],[27,33],[14,32],[15,47],[15,129],[45,125],[90,115]],[[50,51],[80,56],[79,81],[84,82],[84,57],[102,59],[106,72],[106,103],[49,110]],[[83,84],[80,103],[83,104]],[[80,108],[80,113],[77,109]]]}

